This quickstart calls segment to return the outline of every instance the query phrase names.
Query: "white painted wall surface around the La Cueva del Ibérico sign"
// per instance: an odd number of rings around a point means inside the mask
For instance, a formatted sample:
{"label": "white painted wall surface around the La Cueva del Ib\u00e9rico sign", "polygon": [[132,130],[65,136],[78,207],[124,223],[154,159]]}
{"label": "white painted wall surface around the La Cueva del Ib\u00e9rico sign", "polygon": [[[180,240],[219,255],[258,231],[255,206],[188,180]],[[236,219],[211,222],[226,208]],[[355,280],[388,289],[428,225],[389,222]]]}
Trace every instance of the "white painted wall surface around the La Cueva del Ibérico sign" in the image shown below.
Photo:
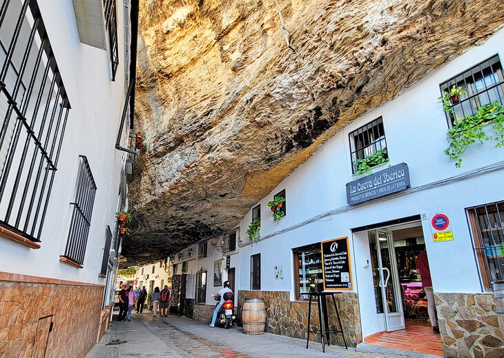
{"label": "white painted wall surface around the La Cueva del Ib\u00e9rico sign", "polygon": [[[329,139],[307,162],[285,178],[258,204],[266,207],[273,195],[285,189],[289,214],[273,221],[271,211],[261,213],[262,241],[240,249],[240,290],[250,289],[250,256],[261,253],[261,290],[290,291],[295,300],[292,249],[330,238],[352,236],[351,228],[414,216],[445,212],[449,214],[454,241],[434,243],[429,220],[423,231],[437,292],[481,292],[478,266],[472,249],[472,239],[465,208],[504,199],[498,184],[504,180],[504,149],[495,149],[492,142],[474,144],[463,156],[461,169],[444,153],[448,147],[443,107],[438,103],[440,84],[498,54],[504,60],[504,30],[485,44],[474,46],[466,53],[443,64],[405,89],[394,100],[385,102],[354,120]],[[408,164],[411,189],[377,202],[349,207],[345,185],[353,180],[350,160],[349,133],[382,117],[387,135],[390,162],[373,169],[386,169],[389,164]],[[494,165],[495,170],[485,173]],[[458,179],[459,176],[465,176]],[[447,180],[444,185],[440,181]],[[254,205],[255,206],[255,205]],[[322,218],[318,218],[321,214]],[[251,222],[251,211],[240,223],[245,233]],[[367,240],[367,238],[366,238]],[[357,245],[353,240],[351,259],[353,290],[369,281],[370,269],[362,269],[361,259],[369,256],[369,242]],[[275,280],[273,267],[283,265],[284,279]],[[369,272],[368,272],[369,273]],[[364,293],[364,291],[362,291]]]}

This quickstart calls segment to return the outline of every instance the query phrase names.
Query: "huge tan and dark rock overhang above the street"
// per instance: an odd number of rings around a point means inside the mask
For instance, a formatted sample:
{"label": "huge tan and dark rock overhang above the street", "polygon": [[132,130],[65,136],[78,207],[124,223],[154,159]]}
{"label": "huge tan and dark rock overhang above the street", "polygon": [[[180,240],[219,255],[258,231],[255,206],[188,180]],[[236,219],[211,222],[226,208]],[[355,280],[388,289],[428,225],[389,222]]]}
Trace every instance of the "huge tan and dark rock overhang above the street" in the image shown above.
{"label": "huge tan and dark rock overhang above the street", "polygon": [[497,0],[140,1],[128,262],[234,225],[349,121],[504,23]]}

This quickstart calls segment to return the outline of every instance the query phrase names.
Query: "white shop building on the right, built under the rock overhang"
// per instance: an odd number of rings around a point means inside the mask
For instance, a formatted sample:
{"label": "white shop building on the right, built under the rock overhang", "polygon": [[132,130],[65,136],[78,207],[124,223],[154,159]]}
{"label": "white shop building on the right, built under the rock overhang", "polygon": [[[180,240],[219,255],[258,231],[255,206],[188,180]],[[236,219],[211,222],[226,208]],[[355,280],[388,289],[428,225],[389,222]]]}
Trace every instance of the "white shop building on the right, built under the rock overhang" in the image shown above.
{"label": "white shop building on the right, built under the rock overhang", "polygon": [[[461,118],[487,103],[502,106],[503,60],[501,30],[327,140],[258,202],[260,209],[251,208],[237,226],[235,250],[223,254],[221,244],[220,251],[209,245],[206,258],[193,256],[188,277],[207,273],[204,303],[213,306],[209,294],[217,290],[213,262],[223,262],[226,279],[229,255],[238,309],[244,298],[262,297],[266,331],[306,338],[307,292],[323,280],[320,243],[347,238],[351,268],[340,279],[350,287],[335,292],[347,342],[355,346],[378,332],[403,329],[407,317],[419,314],[415,260],[425,249],[445,356],[502,352],[498,321],[504,319],[492,292],[492,282],[504,279],[504,149],[495,147],[502,138],[470,145],[457,168],[445,154],[454,124],[438,97],[443,89],[464,88],[452,102],[454,117]],[[494,124],[484,127],[492,137],[498,136]],[[353,162],[380,149],[387,161],[356,182]],[[388,187],[376,181],[380,177]],[[348,196],[347,184],[353,188]],[[280,220],[266,206],[275,196],[286,199]],[[251,245],[246,230],[258,211],[261,240]],[[198,245],[192,248],[194,255]],[[175,259],[177,267],[184,258]],[[187,280],[188,298],[202,286],[196,281]],[[196,302],[193,310],[194,318],[209,319],[211,308]],[[496,337],[493,345],[488,335]]]}

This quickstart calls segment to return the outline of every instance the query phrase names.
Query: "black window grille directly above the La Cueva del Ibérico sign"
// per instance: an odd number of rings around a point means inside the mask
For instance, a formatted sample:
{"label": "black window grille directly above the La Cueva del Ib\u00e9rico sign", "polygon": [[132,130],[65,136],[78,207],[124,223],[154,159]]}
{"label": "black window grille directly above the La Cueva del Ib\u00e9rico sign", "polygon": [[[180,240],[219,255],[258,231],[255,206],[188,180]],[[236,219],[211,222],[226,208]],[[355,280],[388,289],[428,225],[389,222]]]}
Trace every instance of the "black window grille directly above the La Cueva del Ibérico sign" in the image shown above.
{"label": "black window grille directly above the La Cueva del Ib\u00e9rico sign", "polygon": [[[357,171],[356,160],[371,156],[376,151],[387,149],[382,117],[351,132],[349,140],[352,173],[355,173]],[[387,152],[385,152],[385,158],[389,158]]]}

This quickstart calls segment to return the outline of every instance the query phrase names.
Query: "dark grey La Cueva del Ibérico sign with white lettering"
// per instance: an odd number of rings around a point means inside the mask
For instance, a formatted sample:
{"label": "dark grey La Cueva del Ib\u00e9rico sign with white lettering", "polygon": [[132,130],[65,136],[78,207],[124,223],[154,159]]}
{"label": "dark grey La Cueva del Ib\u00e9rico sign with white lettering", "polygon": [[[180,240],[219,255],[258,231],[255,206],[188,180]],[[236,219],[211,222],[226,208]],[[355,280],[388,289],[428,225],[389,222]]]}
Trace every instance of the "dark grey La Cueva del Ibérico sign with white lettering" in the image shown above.
{"label": "dark grey La Cueva del Ib\u00e9rico sign with white lettering", "polygon": [[347,183],[347,202],[356,205],[371,199],[403,191],[411,186],[406,163],[377,171]]}

